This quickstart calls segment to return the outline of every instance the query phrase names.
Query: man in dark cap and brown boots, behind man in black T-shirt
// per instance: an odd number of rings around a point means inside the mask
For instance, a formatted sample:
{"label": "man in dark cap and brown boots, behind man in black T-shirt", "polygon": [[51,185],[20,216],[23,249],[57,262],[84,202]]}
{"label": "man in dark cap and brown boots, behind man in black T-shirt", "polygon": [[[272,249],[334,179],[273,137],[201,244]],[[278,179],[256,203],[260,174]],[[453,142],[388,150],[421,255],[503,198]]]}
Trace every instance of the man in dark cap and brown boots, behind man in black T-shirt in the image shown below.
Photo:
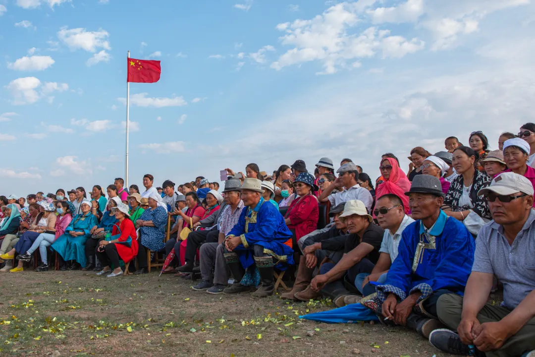
{"label": "man in dark cap and brown boots, behind man in black T-shirt", "polygon": [[[299,240],[300,242],[302,241],[301,250],[303,255],[301,255],[299,259],[299,267],[297,268],[295,283],[291,291],[280,295],[281,299],[309,301],[310,299],[317,297],[317,293],[311,289],[309,289],[307,293],[304,293],[299,298],[295,297],[295,294],[303,293],[305,288],[310,284],[312,272],[314,272],[314,269],[319,267],[320,263],[322,263],[325,259],[330,259],[335,263],[338,263],[342,258],[343,253],[341,251],[331,252],[329,250],[322,249],[322,241],[334,237],[340,237],[346,234],[346,224],[342,223],[339,219],[339,216],[343,212],[344,206],[345,203],[340,203],[338,206],[329,211],[329,216],[333,218],[333,224],[330,225],[327,230],[316,230],[310,234],[307,234],[306,236],[303,236]],[[305,239],[303,240],[303,238]],[[312,295],[309,297],[309,294]]]}

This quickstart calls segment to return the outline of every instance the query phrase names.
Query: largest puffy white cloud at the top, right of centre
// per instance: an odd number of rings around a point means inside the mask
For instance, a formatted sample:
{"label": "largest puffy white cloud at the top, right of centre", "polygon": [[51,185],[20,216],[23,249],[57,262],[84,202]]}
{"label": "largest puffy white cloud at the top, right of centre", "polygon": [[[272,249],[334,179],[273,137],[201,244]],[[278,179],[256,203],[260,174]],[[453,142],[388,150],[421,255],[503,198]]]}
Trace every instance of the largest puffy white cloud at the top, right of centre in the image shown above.
{"label": "largest puffy white cloud at the top, right of centre", "polygon": [[349,61],[354,63],[356,59],[373,57],[381,50],[383,57],[401,57],[423,48],[423,42],[416,38],[407,41],[402,36],[390,36],[390,31],[377,27],[349,33],[360,23],[357,11],[362,11],[364,6],[357,5],[340,3],[311,20],[298,19],[277,25],[279,31],[285,32],[280,37],[282,44],[294,48],[281,55],[271,68],[281,70],[317,60],[324,67],[324,71],[317,74],[332,74],[340,67],[348,67]]}

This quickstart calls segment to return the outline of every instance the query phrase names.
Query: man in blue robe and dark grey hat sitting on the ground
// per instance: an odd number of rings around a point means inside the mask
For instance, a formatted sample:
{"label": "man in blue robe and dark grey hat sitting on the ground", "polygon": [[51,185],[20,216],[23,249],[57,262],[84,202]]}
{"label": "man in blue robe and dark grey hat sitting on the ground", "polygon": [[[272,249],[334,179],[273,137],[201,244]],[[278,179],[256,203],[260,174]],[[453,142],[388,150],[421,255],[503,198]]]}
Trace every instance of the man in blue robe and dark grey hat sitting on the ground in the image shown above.
{"label": "man in blue robe and dark grey hat sitting on the ground", "polygon": [[416,176],[406,195],[417,221],[403,231],[386,282],[362,302],[381,322],[407,326],[428,338],[443,327],[437,317],[438,298],[464,292],[475,241],[461,222],[440,209],[444,194],[438,178]]}

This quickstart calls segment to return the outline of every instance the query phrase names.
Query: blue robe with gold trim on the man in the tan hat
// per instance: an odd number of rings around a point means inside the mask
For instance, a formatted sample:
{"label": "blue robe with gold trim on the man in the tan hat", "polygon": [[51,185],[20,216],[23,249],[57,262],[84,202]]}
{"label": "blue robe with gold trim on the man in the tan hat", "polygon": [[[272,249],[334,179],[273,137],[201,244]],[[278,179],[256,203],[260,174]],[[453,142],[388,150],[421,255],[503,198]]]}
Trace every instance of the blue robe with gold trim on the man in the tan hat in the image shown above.
{"label": "blue robe with gold trim on the man in the tan hat", "polygon": [[269,202],[260,199],[254,209],[243,209],[234,228],[227,237],[241,237],[242,243],[234,249],[238,253],[243,268],[255,263],[253,246],[264,247],[264,253],[274,257],[275,267],[285,270],[287,264],[292,265],[293,249],[284,243],[292,238],[292,232],[286,226],[284,217]]}

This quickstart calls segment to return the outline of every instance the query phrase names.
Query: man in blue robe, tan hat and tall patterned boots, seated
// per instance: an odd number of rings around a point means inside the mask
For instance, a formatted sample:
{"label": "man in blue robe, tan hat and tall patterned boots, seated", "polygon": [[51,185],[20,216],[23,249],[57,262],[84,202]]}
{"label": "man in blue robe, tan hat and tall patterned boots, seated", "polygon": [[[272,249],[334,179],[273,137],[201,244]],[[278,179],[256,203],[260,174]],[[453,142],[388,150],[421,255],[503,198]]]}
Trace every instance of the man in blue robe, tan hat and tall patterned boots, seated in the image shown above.
{"label": "man in blue robe, tan hat and tall patterned boots, seated", "polygon": [[234,276],[234,284],[223,290],[225,294],[250,291],[259,280],[253,297],[273,295],[273,268],[285,270],[294,263],[292,232],[278,209],[264,201],[263,192],[262,181],[243,181],[241,198],[246,208],[224,242],[225,260]]}

